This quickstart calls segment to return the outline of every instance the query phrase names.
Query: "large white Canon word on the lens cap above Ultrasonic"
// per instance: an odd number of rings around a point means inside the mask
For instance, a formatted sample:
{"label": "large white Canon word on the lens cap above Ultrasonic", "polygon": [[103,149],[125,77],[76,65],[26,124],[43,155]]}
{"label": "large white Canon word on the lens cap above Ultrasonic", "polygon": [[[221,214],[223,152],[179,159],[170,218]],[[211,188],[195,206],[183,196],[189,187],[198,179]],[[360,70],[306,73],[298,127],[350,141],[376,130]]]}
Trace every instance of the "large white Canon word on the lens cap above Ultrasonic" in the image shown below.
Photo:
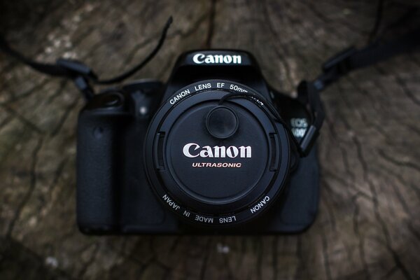
{"label": "large white Canon word on the lens cap above Ultrasonic", "polygon": [[[200,149],[201,148],[201,149]],[[198,151],[197,151],[198,150]],[[188,143],[186,146],[183,146],[183,154],[187,158],[251,158],[252,149],[251,146],[202,146],[195,143]]]}

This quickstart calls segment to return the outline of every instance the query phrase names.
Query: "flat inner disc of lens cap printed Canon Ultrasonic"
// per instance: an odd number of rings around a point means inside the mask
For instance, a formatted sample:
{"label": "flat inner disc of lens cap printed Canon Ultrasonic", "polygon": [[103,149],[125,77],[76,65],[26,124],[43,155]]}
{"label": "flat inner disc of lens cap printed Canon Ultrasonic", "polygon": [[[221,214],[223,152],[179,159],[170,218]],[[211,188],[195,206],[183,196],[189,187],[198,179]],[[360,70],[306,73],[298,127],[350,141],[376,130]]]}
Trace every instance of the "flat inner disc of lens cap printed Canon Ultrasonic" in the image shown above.
{"label": "flat inner disc of lens cap printed Canon Ultrasonic", "polygon": [[[222,110],[216,106],[211,101],[191,106],[171,124],[165,161],[172,178],[165,183],[169,185],[173,179],[181,191],[193,198],[188,204],[202,202],[209,204],[208,208],[218,204],[221,210],[259,183],[267,165],[268,143],[258,119],[233,104],[243,124],[235,137],[219,139],[209,134],[206,125],[209,114]],[[233,110],[223,108],[223,111]],[[215,123],[223,125],[223,121]]]}

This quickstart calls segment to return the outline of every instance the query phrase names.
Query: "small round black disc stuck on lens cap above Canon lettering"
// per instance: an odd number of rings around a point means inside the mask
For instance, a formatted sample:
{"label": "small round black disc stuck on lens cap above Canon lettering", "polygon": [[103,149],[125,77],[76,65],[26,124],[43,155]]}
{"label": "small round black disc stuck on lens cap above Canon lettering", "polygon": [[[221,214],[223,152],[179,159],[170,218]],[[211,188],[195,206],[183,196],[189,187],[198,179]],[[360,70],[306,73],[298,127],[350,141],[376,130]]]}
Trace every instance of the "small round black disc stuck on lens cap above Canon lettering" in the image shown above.
{"label": "small round black disc stuck on lens cap above Canon lettering", "polygon": [[226,106],[217,106],[207,114],[206,127],[213,137],[231,137],[238,129],[237,114]]}

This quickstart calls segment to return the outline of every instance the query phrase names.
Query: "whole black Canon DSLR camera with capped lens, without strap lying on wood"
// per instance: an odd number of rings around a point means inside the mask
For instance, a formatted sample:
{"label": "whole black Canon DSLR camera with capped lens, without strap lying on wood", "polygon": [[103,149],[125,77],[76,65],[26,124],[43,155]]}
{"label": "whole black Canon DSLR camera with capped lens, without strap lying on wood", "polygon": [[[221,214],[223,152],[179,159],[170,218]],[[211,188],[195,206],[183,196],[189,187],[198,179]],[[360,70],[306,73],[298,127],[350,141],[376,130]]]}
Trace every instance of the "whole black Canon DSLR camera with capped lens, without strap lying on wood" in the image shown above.
{"label": "whole black Canon DSLR camera with capped lens, without strap lying on wood", "polygon": [[[268,106],[270,105],[270,106]],[[288,133],[269,108],[290,125]],[[139,80],[80,112],[77,221],[87,234],[300,232],[318,207],[311,116],[239,50],[179,57],[166,85]]]}

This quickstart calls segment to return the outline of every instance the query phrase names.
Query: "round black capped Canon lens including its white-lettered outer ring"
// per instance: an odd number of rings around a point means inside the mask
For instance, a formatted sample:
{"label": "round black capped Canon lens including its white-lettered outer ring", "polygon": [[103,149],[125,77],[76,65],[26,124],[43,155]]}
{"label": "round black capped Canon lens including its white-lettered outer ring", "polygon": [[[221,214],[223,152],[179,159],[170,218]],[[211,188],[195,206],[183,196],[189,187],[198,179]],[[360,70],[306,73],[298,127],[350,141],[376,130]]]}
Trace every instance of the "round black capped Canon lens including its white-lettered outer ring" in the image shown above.
{"label": "round black capped Canon lens including its white-lettered outer ring", "polygon": [[[289,167],[286,131],[239,83],[206,80],[176,92],[149,127],[146,172],[164,204],[193,223],[258,216],[281,193]],[[238,97],[225,100],[226,94]],[[253,92],[257,94],[256,92]]]}

